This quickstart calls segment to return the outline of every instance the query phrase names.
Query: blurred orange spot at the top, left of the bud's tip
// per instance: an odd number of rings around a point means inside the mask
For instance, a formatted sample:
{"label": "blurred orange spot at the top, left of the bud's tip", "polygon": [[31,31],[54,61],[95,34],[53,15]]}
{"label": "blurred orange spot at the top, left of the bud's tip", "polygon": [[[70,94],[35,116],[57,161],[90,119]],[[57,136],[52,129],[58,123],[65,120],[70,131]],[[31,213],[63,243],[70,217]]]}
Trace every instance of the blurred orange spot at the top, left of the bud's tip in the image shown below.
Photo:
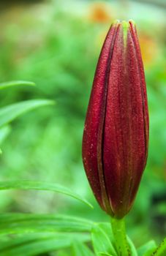
{"label": "blurred orange spot at the top, left of the bud's tip", "polygon": [[105,3],[94,3],[89,10],[88,19],[97,23],[110,22],[111,15]]}

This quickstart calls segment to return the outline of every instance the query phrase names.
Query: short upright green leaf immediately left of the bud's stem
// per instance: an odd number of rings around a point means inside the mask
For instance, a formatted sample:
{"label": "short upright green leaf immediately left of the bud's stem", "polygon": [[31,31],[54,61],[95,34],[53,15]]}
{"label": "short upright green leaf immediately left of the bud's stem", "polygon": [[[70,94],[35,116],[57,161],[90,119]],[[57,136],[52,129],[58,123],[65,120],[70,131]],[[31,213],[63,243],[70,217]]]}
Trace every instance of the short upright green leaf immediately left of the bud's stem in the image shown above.
{"label": "short upright green leaf immediately left of the bud's stem", "polygon": [[94,252],[97,255],[103,255],[103,253],[106,255],[117,255],[110,223],[95,224],[91,230],[91,238],[94,246]]}

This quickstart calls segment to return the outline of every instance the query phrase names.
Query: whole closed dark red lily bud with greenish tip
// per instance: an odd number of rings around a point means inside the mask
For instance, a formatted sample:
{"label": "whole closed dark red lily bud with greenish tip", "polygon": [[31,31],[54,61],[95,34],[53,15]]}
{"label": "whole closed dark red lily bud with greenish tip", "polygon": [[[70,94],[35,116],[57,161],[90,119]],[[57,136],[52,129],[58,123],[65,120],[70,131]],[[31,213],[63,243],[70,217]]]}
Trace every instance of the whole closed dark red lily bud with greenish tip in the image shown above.
{"label": "whole closed dark red lily bud with greenish tip", "polygon": [[133,21],[116,21],[99,56],[83,132],[83,165],[99,205],[116,218],[135,200],[148,154],[148,105]]}

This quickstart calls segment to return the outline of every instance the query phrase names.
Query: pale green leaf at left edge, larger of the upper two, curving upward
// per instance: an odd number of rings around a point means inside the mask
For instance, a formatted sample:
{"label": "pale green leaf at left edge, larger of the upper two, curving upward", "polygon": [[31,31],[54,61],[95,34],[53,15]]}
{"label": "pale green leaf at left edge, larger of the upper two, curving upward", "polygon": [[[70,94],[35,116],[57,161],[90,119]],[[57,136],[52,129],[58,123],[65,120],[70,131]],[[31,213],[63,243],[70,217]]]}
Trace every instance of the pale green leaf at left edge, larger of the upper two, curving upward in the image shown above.
{"label": "pale green leaf at left edge, larger of the upper two, curving upward", "polygon": [[10,123],[12,120],[22,115],[23,113],[39,108],[45,105],[53,105],[52,100],[46,99],[31,99],[23,102],[18,102],[0,109],[0,127]]}

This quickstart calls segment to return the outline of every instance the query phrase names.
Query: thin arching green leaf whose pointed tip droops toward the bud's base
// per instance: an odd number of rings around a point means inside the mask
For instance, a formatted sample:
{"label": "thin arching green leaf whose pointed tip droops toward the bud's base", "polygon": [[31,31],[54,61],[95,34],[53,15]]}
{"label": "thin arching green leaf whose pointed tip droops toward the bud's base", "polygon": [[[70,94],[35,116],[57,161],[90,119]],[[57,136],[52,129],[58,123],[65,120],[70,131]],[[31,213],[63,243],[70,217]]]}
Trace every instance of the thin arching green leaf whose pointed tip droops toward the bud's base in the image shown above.
{"label": "thin arching green leaf whose pointed tip droops toward the bud's base", "polygon": [[80,197],[80,195],[76,194],[75,192],[72,192],[67,187],[63,187],[59,184],[51,184],[42,181],[0,181],[0,190],[4,189],[34,189],[58,192],[64,195],[69,195],[70,197],[73,197],[77,200],[80,200],[80,202],[85,203],[87,206],[93,208],[93,206],[91,206],[91,204],[88,203],[86,199]]}

